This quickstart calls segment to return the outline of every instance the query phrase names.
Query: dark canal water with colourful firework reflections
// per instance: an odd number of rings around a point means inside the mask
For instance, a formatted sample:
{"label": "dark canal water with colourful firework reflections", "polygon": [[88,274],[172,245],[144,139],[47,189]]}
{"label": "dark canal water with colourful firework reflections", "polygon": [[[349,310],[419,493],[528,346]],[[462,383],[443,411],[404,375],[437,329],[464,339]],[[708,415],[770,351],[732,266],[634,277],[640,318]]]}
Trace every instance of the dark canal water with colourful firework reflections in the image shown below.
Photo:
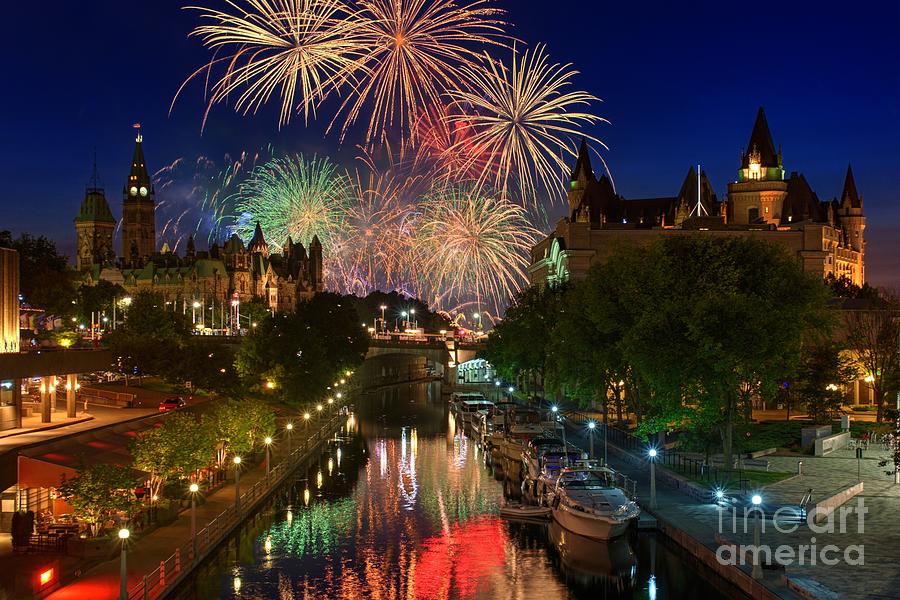
{"label": "dark canal water with colourful firework reflections", "polygon": [[744,597],[655,534],[600,543],[498,517],[503,483],[434,386],[357,405],[340,439],[176,596]]}

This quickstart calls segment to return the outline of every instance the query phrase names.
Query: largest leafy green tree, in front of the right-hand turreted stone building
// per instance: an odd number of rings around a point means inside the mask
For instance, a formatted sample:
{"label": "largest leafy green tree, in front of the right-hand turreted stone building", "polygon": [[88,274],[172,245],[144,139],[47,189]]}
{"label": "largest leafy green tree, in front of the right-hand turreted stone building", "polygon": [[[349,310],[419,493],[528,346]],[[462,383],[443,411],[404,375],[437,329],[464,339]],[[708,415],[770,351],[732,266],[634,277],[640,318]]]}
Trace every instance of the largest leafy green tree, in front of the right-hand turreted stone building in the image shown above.
{"label": "largest leafy green tree, in front of the right-hand turreted stone building", "polygon": [[666,237],[633,259],[620,282],[634,317],[623,353],[653,389],[649,426],[715,426],[730,469],[734,424],[754,396],[774,395],[804,337],[830,325],[827,288],[752,238]]}

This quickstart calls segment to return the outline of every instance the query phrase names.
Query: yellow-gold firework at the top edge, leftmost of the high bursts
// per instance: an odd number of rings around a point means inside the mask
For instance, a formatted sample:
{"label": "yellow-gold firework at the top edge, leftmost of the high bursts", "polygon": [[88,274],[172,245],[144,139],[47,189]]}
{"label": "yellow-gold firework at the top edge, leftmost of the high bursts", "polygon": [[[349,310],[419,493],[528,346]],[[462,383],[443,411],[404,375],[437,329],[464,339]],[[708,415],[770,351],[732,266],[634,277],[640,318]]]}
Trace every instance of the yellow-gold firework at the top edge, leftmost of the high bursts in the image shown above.
{"label": "yellow-gold firework at the top edge, leftmost of the high bursts", "polygon": [[[191,35],[214,55],[187,78],[175,98],[205,73],[204,125],[212,106],[232,94],[235,109],[244,115],[279,97],[279,127],[290,122],[295,108],[308,120],[316,105],[359,69],[366,53],[362,29],[356,13],[340,0],[227,1],[233,13],[189,7],[208,21]],[[224,72],[214,76],[214,68],[220,67]]]}

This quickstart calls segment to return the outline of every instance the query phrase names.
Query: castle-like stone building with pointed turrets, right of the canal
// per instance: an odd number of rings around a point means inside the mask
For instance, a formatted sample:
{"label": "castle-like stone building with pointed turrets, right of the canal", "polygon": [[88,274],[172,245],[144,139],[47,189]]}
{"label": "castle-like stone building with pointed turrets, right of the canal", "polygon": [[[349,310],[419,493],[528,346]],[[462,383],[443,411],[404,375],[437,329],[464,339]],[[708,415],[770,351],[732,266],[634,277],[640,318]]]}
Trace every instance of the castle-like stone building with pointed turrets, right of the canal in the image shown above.
{"label": "castle-like stone building with pointed turrets, right of the canal", "polygon": [[847,168],[840,198],[820,201],[802,174],[785,174],[762,108],[724,201],[693,168],[675,196],[625,199],[606,175],[595,177],[584,142],[568,201],[568,216],[532,249],[533,285],[581,279],[617,248],[663,235],[754,237],[784,246],[810,273],[865,282],[866,219],[853,172]]}

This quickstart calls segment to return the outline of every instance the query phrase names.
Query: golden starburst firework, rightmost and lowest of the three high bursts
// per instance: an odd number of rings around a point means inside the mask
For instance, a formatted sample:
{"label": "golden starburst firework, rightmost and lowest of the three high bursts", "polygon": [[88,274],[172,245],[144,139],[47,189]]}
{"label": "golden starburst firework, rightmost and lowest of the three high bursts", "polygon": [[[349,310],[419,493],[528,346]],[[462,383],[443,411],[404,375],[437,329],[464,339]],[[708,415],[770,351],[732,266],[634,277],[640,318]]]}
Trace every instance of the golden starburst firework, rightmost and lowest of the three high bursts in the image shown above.
{"label": "golden starburst firework, rightmost and lowest of the three high bursts", "polygon": [[518,191],[523,203],[537,206],[540,194],[555,194],[559,188],[555,174],[567,168],[561,154],[574,156],[568,138],[584,135],[602,145],[581,130],[605,121],[584,110],[598,99],[568,90],[577,71],[550,63],[542,46],[519,56],[514,50],[509,67],[485,56],[479,65],[464,65],[462,72],[470,89],[448,90],[459,112],[447,118],[472,130],[459,144],[479,147],[493,158],[479,184],[504,194]]}

